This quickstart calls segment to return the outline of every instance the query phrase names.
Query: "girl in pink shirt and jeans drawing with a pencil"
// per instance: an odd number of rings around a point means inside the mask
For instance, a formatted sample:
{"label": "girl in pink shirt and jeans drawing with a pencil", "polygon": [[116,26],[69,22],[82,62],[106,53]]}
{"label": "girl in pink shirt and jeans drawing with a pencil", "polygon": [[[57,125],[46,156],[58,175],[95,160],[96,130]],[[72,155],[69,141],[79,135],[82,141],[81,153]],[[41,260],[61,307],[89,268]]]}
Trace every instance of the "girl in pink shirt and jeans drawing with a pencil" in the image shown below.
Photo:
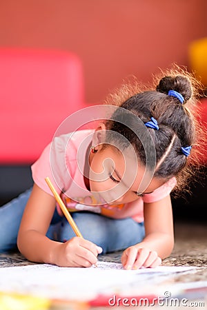
{"label": "girl in pink shirt and jeans drawing with a pencil", "polygon": [[[0,209],[0,251],[17,244],[34,262],[90,267],[101,252],[125,249],[125,269],[160,265],[174,244],[170,192],[183,189],[196,140],[186,107],[194,80],[180,72],[168,72],[156,90],[123,87],[96,130],[54,138],[32,165],[34,187]],[[84,239],[62,216],[47,176]]]}

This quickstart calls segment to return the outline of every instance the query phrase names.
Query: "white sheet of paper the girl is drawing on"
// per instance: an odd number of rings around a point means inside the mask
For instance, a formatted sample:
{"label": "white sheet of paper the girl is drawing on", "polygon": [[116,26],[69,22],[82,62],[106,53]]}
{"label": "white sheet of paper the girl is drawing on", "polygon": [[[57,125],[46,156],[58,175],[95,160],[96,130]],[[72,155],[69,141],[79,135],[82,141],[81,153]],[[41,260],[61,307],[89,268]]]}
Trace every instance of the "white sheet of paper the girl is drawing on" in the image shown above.
{"label": "white sheet of paper the girl is drawing on", "polygon": [[[71,268],[37,264],[0,268],[0,291],[30,293],[62,300],[91,300],[99,294],[144,293],[162,276],[193,267],[124,270],[115,262],[97,262],[97,267]],[[153,293],[156,293],[155,291]]]}

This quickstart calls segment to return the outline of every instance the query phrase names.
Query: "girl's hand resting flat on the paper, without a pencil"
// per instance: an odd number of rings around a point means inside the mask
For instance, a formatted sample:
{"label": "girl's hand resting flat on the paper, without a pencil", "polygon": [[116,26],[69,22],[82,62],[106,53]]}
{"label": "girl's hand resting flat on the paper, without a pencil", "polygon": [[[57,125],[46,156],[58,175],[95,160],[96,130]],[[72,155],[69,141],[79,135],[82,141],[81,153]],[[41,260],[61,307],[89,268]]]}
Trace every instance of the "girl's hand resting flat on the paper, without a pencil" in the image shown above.
{"label": "girl's hand resting flat on the paper, without a pencil", "polygon": [[161,264],[161,258],[157,256],[156,251],[134,245],[124,251],[121,262],[125,269],[130,270],[141,267],[157,267]]}

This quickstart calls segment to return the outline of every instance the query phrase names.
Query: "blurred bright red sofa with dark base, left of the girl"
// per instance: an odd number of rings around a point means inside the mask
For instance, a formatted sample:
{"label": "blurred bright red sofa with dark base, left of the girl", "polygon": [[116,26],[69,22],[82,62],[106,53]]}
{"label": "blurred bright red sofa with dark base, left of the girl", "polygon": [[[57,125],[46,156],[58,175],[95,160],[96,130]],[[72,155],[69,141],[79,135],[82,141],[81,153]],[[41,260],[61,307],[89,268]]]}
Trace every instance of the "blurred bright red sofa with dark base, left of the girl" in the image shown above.
{"label": "blurred bright red sofa with dark base, left of the girl", "polygon": [[83,69],[77,55],[0,49],[2,203],[32,184],[30,164],[52,140],[61,121],[81,107]]}

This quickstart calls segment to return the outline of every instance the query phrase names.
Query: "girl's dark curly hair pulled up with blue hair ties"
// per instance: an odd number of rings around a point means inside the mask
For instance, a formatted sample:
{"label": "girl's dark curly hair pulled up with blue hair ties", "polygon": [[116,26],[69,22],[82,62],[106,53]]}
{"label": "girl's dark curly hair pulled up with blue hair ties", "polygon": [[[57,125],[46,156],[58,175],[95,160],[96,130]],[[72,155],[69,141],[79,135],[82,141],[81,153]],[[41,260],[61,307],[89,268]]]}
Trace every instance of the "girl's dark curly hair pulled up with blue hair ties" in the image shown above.
{"label": "girl's dark curly hair pulled up with blue hair ties", "polygon": [[[137,116],[143,123],[150,121],[151,117],[155,118],[159,125],[159,130],[148,128],[156,151],[154,176],[164,178],[165,180],[176,176],[177,189],[183,189],[184,185],[186,185],[186,178],[194,170],[193,161],[190,161],[190,158],[193,158],[194,147],[197,144],[196,121],[188,105],[193,107],[195,104],[197,87],[200,87],[200,84],[189,73],[177,68],[167,72],[161,78],[159,77],[159,82],[154,87],[154,90],[138,91],[132,94],[133,86],[124,85],[121,88],[122,94],[121,92],[116,93],[115,101],[119,98],[119,94],[121,94],[121,98],[123,94],[128,94],[128,99],[122,101],[121,104],[118,103],[118,105],[132,112],[136,117],[132,113],[124,113],[123,109],[117,109],[112,115],[113,121],[106,122],[106,127],[110,130],[108,132],[108,139],[112,141],[112,132],[118,132],[121,134],[119,136],[124,136],[128,143],[125,142],[124,145],[122,143],[122,147],[125,148],[131,144],[135,148],[141,163],[146,165],[146,149],[144,149],[142,143],[144,136],[140,139],[140,127],[137,124]],[[128,92],[126,91],[127,89],[129,90]],[[135,89],[137,90],[137,84],[134,91]],[[184,103],[181,104],[175,96],[169,96],[169,90],[179,92],[184,97]],[[108,103],[113,104],[111,98],[108,100]],[[121,123],[123,117],[128,118],[127,123],[130,124],[130,127]],[[119,139],[119,136],[115,137],[116,140],[117,138]],[[181,147],[187,146],[193,147],[188,157],[181,151]],[[190,163],[192,164],[191,169]]]}

